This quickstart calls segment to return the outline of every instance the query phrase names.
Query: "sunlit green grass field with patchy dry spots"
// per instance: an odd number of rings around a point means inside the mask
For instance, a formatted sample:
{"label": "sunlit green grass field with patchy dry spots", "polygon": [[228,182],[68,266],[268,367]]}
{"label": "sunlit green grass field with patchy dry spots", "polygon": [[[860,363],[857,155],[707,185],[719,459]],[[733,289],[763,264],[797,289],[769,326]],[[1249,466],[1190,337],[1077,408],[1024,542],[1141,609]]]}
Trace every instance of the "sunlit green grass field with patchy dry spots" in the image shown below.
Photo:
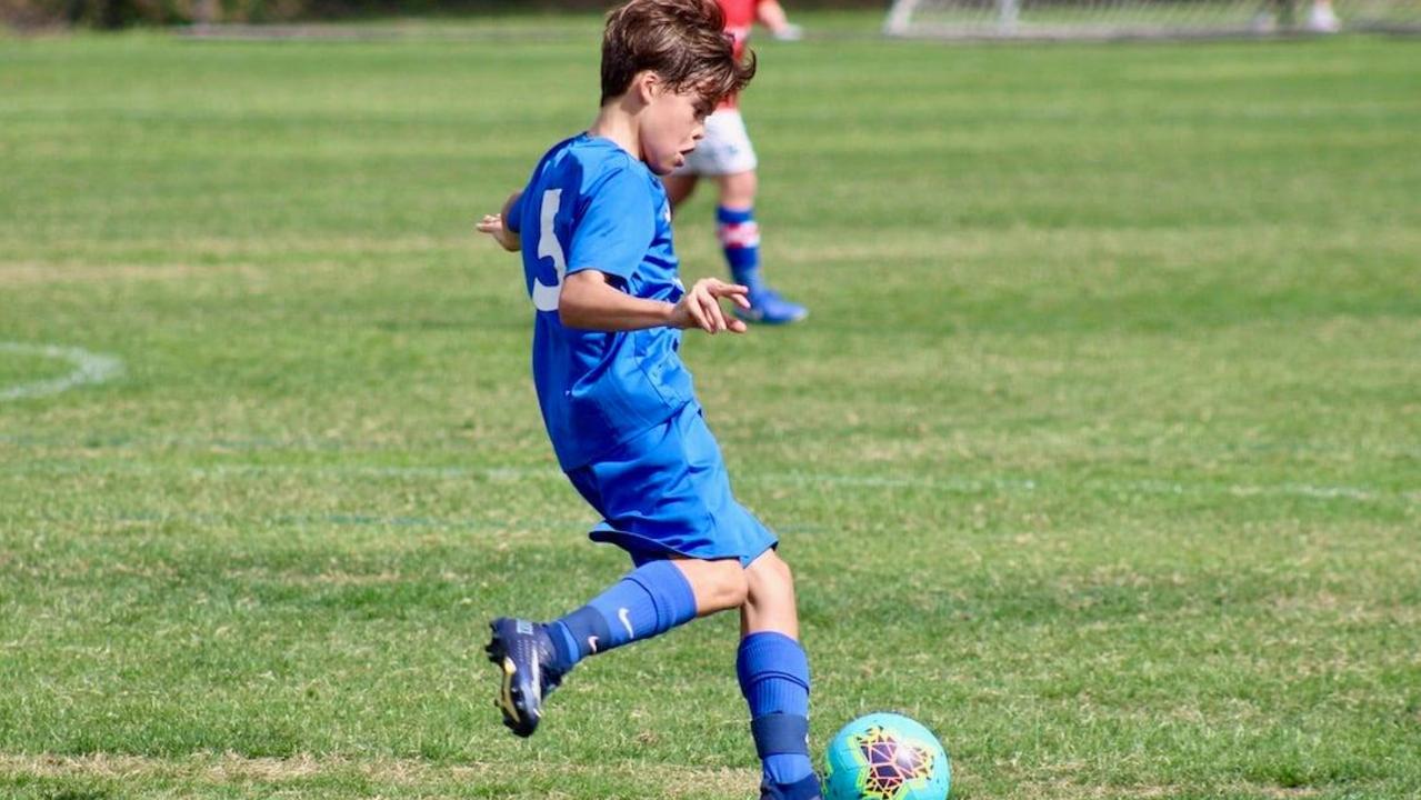
{"label": "sunlit green grass field with patchy dry spots", "polygon": [[[897,709],[959,799],[1421,796],[1421,45],[804,21],[745,105],[813,317],[685,354],[816,749]],[[490,703],[485,621],[625,568],[472,234],[597,20],[497,26],[0,40],[0,796],[752,797],[729,617],[529,742]]]}

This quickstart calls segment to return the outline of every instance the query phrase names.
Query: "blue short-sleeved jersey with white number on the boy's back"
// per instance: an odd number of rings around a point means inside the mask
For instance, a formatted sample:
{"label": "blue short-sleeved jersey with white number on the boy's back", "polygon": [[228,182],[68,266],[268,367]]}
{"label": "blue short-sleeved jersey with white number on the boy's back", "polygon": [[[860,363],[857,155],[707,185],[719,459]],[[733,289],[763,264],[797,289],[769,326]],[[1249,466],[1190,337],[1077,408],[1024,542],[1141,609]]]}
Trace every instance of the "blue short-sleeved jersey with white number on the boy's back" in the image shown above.
{"label": "blue short-sleeved jersey with white number on the boy's back", "polygon": [[681,331],[584,331],[563,325],[563,280],[605,273],[634,297],[684,294],[661,180],[615,142],[587,134],[556,145],[509,210],[533,298],[533,382],[564,470],[597,460],[695,402]]}

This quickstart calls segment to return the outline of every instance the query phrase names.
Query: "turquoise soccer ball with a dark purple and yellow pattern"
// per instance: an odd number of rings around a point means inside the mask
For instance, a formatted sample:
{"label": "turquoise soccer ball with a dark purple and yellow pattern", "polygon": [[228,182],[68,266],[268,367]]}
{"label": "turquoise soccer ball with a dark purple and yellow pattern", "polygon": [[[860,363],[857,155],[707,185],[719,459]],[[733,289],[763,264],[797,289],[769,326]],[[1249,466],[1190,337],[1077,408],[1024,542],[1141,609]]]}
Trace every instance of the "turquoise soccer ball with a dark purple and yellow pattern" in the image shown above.
{"label": "turquoise soccer ball with a dark purple and yellow pattern", "polygon": [[931,730],[897,713],[870,713],[828,745],[826,800],[946,800],[952,767]]}

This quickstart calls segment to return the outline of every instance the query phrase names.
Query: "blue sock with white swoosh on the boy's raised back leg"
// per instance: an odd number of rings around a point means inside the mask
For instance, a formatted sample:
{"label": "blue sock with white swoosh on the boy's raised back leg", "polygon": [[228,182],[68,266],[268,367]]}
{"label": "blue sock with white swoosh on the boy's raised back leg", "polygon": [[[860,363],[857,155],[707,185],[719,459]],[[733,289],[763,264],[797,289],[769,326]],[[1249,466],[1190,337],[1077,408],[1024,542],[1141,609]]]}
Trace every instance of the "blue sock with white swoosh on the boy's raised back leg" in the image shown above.
{"label": "blue sock with white swoosh on the boy's raised back leg", "polygon": [[685,574],[668,560],[648,561],[549,624],[558,661],[554,666],[567,672],[588,655],[664,634],[695,617],[696,597]]}

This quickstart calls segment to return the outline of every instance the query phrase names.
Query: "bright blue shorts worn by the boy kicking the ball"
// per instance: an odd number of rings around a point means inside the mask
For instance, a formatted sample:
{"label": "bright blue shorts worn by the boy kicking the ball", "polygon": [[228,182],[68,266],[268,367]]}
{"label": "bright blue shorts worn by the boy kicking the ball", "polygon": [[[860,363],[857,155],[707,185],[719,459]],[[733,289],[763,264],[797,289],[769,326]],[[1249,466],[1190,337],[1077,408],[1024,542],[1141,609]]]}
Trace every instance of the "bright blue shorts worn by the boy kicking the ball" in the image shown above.
{"label": "bright blue shorts worn by the boy kicking the ball", "polygon": [[638,564],[681,554],[749,566],[779,543],[730,493],[720,448],[695,402],[567,476],[604,517],[593,541],[617,544]]}

